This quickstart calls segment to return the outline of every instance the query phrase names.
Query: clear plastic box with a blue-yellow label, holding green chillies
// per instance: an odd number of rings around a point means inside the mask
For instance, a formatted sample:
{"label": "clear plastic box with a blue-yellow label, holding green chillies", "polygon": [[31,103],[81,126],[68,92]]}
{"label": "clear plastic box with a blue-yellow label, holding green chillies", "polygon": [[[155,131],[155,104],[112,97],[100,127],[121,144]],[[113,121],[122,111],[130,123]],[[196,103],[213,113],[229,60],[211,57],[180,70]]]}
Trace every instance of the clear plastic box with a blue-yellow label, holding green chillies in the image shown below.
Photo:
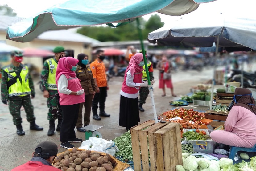
{"label": "clear plastic box with a blue-yellow label, holding green chillies", "polygon": [[215,142],[213,140],[211,141],[193,141],[193,151],[195,153],[201,152],[201,153],[213,153],[213,150],[215,148]]}

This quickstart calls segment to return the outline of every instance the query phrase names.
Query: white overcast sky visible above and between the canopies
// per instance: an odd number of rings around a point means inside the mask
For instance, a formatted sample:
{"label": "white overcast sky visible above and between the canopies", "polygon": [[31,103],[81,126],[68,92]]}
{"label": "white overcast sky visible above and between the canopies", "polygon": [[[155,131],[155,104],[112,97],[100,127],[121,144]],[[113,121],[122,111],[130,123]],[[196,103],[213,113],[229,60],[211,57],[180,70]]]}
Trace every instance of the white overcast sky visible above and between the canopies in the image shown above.
{"label": "white overcast sky visible above and between the canopies", "polygon": [[[64,0],[0,0],[0,5],[7,4],[15,10],[18,17],[27,18],[63,1]],[[196,11],[180,17],[167,16],[160,13],[152,14],[158,14],[161,17],[162,22],[165,23],[165,26],[169,26],[172,22],[175,22],[182,17],[196,17],[206,13],[241,13],[256,16],[255,6],[255,0],[217,0],[215,2],[200,4]],[[152,14],[146,15],[144,18],[148,19]]]}

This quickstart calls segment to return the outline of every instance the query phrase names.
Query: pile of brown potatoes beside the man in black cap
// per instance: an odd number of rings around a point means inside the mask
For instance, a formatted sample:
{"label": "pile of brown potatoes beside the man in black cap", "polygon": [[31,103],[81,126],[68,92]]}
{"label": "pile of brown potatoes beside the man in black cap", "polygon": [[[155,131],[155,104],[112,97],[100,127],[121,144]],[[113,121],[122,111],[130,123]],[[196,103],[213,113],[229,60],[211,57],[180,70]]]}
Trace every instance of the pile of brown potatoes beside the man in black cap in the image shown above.
{"label": "pile of brown potatoes beside the man in black cap", "polygon": [[53,166],[63,171],[113,171],[116,161],[109,154],[100,154],[90,150],[78,151],[74,147],[72,151],[58,155],[60,160],[55,157]]}

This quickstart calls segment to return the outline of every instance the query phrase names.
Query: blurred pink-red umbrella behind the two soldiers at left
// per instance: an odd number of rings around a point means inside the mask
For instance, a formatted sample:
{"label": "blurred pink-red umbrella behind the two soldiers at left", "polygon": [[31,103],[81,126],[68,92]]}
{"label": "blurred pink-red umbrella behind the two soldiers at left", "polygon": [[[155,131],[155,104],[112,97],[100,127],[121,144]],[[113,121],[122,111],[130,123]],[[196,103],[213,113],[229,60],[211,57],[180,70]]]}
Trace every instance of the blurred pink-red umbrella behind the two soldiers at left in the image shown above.
{"label": "blurred pink-red umbrella behind the two soldiers at left", "polygon": [[54,56],[55,54],[49,50],[43,50],[43,49],[36,49],[27,47],[23,49],[23,56],[26,57],[48,57],[48,56]]}

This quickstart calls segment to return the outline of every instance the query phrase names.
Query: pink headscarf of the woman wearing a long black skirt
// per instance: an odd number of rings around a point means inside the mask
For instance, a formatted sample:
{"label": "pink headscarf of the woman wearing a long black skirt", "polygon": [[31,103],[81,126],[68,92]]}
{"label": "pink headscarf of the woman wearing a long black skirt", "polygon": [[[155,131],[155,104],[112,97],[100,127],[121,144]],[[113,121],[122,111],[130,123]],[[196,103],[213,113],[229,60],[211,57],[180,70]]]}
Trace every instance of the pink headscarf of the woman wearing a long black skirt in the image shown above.
{"label": "pink headscarf of the woman wearing a long black skirt", "polygon": [[131,70],[131,75],[134,75],[135,73],[143,71],[143,67],[138,65],[139,62],[142,61],[142,59],[143,59],[142,53],[137,53],[131,58],[129,62],[129,66],[127,67],[127,71]]}

